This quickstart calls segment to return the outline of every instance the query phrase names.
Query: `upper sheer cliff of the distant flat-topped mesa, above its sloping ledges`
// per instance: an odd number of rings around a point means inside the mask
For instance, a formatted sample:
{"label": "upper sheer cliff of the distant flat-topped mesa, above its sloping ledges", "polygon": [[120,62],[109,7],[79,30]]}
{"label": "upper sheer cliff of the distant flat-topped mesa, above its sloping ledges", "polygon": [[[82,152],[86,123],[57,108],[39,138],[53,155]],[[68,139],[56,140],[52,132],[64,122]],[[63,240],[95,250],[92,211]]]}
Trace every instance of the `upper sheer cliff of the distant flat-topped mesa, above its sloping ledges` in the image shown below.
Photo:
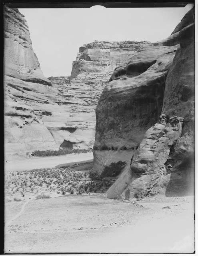
{"label": "upper sheer cliff of the distant flat-topped mesa, above its sloping ledges", "polygon": [[[111,72],[134,54],[144,44],[149,42],[124,41],[106,42],[94,41],[79,48],[76,61],[73,62],[70,80],[90,76],[102,79],[104,82],[109,79]],[[80,76],[79,76],[80,74]]]}

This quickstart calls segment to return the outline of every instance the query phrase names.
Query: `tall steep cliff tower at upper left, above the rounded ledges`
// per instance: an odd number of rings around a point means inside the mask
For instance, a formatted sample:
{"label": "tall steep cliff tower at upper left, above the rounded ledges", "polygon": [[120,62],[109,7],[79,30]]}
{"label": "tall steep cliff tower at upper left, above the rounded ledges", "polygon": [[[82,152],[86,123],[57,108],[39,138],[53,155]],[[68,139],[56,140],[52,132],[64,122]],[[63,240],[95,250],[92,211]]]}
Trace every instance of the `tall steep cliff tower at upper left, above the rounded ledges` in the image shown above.
{"label": "tall steep cliff tower at upper left, above the rounded ledges", "polygon": [[32,49],[28,25],[18,9],[4,7],[4,74],[28,82],[51,85]]}

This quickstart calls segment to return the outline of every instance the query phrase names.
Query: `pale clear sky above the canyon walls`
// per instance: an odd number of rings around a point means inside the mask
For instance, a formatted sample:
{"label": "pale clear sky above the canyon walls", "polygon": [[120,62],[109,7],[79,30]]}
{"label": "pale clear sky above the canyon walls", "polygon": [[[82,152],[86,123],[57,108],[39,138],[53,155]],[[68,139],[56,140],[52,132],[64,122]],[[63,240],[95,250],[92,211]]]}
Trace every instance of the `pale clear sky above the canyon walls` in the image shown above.
{"label": "pale clear sky above the canyon walls", "polygon": [[21,8],[46,77],[68,76],[80,46],[98,41],[150,41],[170,36],[192,4],[180,8]]}

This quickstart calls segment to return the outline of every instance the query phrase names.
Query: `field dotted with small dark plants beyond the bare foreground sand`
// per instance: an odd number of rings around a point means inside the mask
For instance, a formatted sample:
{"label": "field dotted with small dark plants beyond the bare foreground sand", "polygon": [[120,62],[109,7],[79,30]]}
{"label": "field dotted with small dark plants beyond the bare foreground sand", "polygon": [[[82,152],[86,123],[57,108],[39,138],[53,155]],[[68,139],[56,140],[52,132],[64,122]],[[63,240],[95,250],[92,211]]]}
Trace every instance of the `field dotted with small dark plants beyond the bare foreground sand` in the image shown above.
{"label": "field dotted with small dark plants beyond the bare foreground sand", "polygon": [[98,174],[94,175],[91,179],[88,170],[76,171],[66,167],[9,172],[5,176],[5,195],[8,195],[9,199],[26,195],[42,199],[50,198],[50,193],[62,195],[104,193],[114,182],[112,178],[100,176],[99,179]]}

